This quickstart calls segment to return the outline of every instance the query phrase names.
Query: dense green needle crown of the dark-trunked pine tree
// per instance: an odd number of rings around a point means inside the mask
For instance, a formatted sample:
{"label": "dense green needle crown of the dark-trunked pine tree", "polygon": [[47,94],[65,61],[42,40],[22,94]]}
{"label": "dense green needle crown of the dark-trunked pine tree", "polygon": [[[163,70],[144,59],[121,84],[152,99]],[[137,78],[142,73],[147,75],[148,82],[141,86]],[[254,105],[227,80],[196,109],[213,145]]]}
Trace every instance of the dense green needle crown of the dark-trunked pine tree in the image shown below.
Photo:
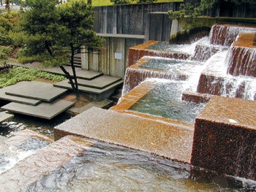
{"label": "dense green needle crown of the dark-trunked pine tree", "polygon": [[[45,64],[67,64],[72,61],[72,52],[85,45],[88,52],[98,51],[102,38],[93,31],[94,12],[85,1],[72,1],[71,5],[56,7],[55,0],[27,0],[23,6],[20,28],[26,47],[25,57],[39,58]],[[20,55],[20,54],[19,54]],[[39,55],[36,57],[35,55]],[[21,57],[19,57],[21,58]],[[50,62],[49,62],[50,61]]]}

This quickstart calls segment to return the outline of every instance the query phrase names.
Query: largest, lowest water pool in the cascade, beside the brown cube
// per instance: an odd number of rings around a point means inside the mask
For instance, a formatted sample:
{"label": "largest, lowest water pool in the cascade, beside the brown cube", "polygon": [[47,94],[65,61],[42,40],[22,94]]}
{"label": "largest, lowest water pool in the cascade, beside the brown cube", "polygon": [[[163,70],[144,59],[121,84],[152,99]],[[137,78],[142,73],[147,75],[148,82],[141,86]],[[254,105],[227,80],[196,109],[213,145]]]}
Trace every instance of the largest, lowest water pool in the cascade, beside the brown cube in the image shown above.
{"label": "largest, lowest water pool in the cascade, beside the brown cube", "polygon": [[172,120],[194,123],[205,104],[182,101],[183,81],[158,81],[157,85],[129,110],[157,115]]}

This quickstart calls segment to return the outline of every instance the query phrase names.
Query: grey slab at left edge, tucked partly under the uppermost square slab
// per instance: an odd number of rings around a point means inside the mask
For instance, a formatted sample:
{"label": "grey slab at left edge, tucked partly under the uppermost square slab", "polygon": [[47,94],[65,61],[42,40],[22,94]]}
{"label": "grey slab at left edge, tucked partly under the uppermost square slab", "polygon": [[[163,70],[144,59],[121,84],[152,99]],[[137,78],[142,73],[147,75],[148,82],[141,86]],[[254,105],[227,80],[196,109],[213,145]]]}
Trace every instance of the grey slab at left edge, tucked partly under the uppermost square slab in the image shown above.
{"label": "grey slab at left edge, tucked partly under the uppermost square slab", "polygon": [[37,99],[29,99],[29,98],[24,98],[21,96],[12,96],[12,95],[7,95],[5,93],[8,91],[12,91],[12,89],[13,89],[12,85],[8,86],[6,88],[1,88],[0,89],[0,99],[6,100],[6,101],[14,101],[14,102],[21,103],[21,104],[31,104],[31,105],[37,105],[42,102]]}

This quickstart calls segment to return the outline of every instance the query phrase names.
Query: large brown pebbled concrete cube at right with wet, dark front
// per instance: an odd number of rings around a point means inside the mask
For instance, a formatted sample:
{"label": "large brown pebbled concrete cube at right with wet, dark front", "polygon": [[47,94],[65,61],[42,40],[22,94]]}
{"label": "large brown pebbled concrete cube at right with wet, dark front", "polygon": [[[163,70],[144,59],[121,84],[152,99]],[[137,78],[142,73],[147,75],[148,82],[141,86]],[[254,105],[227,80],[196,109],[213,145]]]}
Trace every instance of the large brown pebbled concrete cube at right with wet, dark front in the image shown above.
{"label": "large brown pebbled concrete cube at right with wet, dark front", "polygon": [[214,96],[197,115],[194,166],[256,180],[256,102]]}

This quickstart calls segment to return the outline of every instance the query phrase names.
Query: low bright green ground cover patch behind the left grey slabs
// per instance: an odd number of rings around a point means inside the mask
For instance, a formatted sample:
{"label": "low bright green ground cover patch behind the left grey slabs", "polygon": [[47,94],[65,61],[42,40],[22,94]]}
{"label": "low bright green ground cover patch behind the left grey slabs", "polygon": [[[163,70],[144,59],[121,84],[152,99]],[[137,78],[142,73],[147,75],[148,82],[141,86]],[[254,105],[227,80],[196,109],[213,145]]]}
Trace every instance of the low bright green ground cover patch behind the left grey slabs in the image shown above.
{"label": "low bright green ground cover patch behind the left grey slabs", "polygon": [[14,85],[20,81],[36,80],[37,78],[53,80],[55,82],[66,79],[64,76],[42,72],[39,69],[26,69],[18,66],[14,67],[10,72],[0,74],[0,88]]}

